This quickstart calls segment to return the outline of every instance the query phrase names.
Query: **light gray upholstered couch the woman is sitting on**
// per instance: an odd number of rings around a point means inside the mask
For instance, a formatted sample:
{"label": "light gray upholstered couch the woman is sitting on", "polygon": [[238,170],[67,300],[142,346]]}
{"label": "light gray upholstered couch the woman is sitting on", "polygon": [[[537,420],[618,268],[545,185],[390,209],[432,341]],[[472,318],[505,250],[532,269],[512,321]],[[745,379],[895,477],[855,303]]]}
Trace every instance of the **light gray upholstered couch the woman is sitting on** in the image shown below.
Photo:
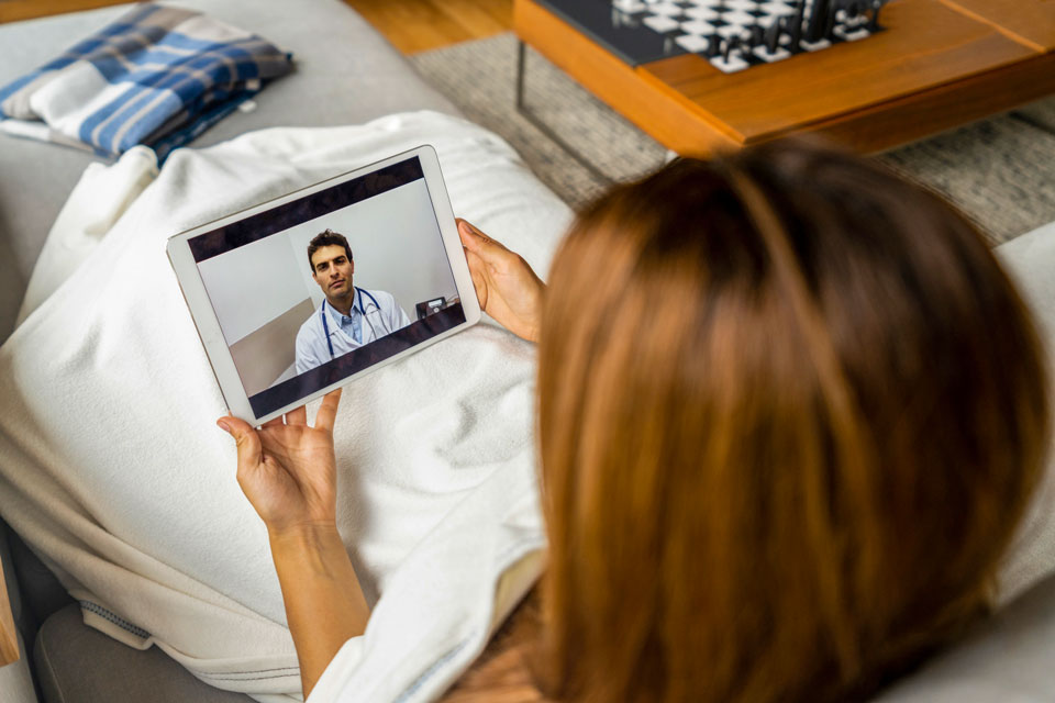
{"label": "light gray upholstered couch the woman is sitting on", "polygon": [[[203,134],[206,146],[278,125],[358,123],[397,111],[457,110],[338,0],[179,0],[292,51],[298,69]],[[0,25],[0,83],[51,58],[121,12],[109,8]],[[0,136],[0,341],[10,333],[49,224],[91,161],[53,145]],[[1051,233],[1055,237],[1055,231]],[[1055,247],[1050,247],[1055,248]],[[1055,257],[1051,258],[1055,270]],[[133,650],[86,627],[76,603],[0,523],[0,559],[22,637],[19,665],[0,669],[0,703],[249,701],[212,689],[156,648]],[[985,623],[967,641],[889,691],[887,703],[1055,701],[1055,579]],[[27,687],[35,670],[34,692]]]}

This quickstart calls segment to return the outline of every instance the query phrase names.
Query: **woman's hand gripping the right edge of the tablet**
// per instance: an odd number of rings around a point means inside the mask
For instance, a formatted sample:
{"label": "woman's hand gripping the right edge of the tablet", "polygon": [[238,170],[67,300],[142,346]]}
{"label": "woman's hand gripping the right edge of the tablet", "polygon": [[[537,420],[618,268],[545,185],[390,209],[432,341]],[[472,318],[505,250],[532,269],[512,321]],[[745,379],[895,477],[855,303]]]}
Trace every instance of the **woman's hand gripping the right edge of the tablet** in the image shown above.
{"label": "woman's hand gripping the right edge of the tablet", "polygon": [[519,254],[457,219],[480,309],[528,342],[538,341],[546,286]]}

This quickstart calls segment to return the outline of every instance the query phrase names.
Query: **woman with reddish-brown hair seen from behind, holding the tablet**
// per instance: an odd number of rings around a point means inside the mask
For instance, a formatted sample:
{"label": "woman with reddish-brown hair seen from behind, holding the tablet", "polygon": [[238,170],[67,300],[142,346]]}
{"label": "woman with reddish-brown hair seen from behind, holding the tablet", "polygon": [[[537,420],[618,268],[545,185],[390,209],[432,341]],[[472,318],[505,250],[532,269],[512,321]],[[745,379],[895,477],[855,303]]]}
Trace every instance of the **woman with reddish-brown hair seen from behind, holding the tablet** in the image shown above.
{"label": "woman with reddish-brown hair seen from behind, holding the tablet", "polygon": [[[782,143],[617,187],[548,288],[459,232],[484,309],[540,343],[549,557],[541,615],[451,701],[859,700],[986,612],[1046,383],[1021,300],[937,198]],[[221,420],[306,692],[368,617],[334,527],[337,398],[314,428]]]}

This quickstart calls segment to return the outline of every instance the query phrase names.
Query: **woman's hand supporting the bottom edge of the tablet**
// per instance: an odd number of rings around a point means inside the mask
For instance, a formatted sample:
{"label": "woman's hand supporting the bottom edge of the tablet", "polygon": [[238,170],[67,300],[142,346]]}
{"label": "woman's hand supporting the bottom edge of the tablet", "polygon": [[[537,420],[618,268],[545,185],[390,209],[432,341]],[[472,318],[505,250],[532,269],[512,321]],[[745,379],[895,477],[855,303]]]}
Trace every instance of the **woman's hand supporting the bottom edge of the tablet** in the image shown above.
{"label": "woman's hand supporting the bottom edge of the tablet", "polygon": [[274,536],[299,527],[336,528],[333,422],[341,390],[327,393],[308,425],[303,405],[253,429],[237,417],[216,424],[238,445],[238,486]]}

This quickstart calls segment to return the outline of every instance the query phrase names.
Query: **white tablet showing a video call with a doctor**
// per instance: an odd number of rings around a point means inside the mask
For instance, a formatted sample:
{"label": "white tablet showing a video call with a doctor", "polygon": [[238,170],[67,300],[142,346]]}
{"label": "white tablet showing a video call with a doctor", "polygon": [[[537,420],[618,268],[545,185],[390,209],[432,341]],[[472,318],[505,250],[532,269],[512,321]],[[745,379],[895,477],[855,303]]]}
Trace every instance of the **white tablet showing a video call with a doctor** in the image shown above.
{"label": "white tablet showing a video call with a doctor", "polygon": [[168,257],[254,425],[480,319],[431,146],[178,234]]}

